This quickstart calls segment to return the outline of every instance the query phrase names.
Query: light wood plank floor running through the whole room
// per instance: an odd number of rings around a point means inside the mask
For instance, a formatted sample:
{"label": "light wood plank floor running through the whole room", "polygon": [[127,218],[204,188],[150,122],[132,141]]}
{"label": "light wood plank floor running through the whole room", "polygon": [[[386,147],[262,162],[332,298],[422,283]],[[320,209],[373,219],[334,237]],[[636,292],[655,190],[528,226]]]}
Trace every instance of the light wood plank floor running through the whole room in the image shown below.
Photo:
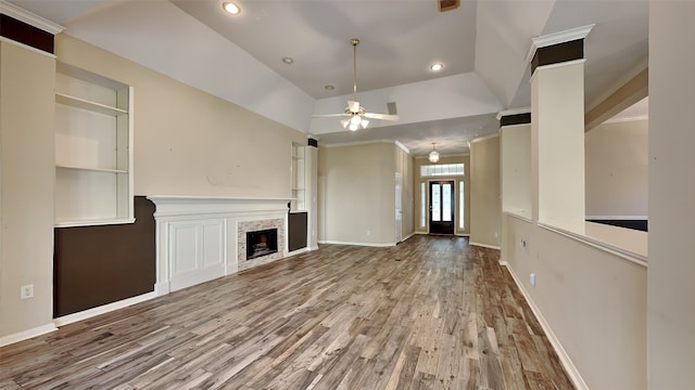
{"label": "light wood plank floor running through the whole room", "polygon": [[573,389],[498,251],[325,245],[0,349],[1,389]]}

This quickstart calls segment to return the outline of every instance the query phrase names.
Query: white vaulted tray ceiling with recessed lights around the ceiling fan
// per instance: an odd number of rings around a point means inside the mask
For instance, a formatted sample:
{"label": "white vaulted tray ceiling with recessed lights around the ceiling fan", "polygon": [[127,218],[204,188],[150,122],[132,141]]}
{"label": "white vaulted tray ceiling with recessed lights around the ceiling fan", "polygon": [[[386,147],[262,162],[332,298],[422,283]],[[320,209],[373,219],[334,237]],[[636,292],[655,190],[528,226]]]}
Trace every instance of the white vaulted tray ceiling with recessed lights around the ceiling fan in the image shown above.
{"label": "white vaulted tray ceiling with recessed lights around the ceiling fan", "polygon": [[[463,0],[445,13],[435,0],[239,0],[236,17],[220,0],[10,2],[324,144],[397,140],[414,155],[432,142],[443,154],[465,153],[466,141],[497,130],[496,112],[529,106],[526,56],[535,36],[596,24],[585,41],[587,105],[648,54],[647,0]],[[396,102],[401,121],[346,132],[337,120],[311,119],[349,99],[353,37],[362,41],[358,100],[381,113]],[[438,61],[445,68],[434,74]],[[236,75],[225,82],[226,69]]]}

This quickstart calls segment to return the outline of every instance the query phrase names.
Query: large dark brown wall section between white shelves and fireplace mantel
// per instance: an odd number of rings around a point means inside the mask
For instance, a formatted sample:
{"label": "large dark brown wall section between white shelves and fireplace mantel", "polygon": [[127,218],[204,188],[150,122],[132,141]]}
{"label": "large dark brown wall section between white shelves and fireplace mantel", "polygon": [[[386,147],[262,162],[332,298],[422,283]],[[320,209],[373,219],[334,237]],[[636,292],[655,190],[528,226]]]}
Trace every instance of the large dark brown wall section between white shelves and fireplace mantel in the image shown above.
{"label": "large dark brown wall section between white shelves and fireplace mantel", "polygon": [[136,196],[135,223],[55,229],[53,317],[153,291],[154,210]]}

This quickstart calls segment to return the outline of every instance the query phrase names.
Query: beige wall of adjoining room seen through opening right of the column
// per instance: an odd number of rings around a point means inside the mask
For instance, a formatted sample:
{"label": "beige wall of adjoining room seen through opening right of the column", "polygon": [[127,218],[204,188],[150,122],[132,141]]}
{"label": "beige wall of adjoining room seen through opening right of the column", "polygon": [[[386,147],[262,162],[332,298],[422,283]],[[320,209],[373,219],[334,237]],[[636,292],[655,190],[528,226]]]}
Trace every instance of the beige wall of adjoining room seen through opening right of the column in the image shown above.
{"label": "beige wall of adjoining room seen through opening right of the column", "polygon": [[586,133],[586,216],[647,216],[648,126],[619,121]]}

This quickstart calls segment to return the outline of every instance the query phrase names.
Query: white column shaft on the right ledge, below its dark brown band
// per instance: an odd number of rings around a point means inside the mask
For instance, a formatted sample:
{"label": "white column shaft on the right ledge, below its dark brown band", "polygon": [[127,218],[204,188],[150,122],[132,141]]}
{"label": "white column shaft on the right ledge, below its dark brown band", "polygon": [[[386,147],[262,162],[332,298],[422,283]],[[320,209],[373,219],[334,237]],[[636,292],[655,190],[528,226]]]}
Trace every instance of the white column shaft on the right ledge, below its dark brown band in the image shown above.
{"label": "white column shaft on the right ledge, below its dark brown band", "polygon": [[531,77],[534,220],[584,232],[584,60]]}

